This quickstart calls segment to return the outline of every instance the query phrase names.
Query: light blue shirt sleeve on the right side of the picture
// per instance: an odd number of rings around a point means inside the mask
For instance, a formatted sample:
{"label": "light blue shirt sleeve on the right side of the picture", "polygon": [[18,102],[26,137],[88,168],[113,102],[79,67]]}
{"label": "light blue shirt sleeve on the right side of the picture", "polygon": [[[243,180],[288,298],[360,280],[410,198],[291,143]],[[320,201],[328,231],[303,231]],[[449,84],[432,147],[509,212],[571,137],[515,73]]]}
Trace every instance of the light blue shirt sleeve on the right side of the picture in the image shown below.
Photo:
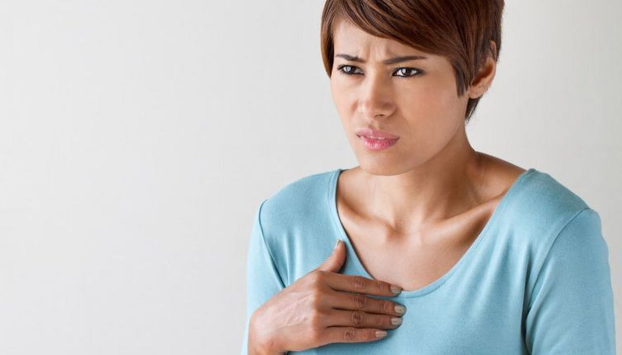
{"label": "light blue shirt sleeve on the right side of the picture", "polygon": [[608,247],[591,208],[553,241],[532,289],[525,332],[531,354],[615,354]]}

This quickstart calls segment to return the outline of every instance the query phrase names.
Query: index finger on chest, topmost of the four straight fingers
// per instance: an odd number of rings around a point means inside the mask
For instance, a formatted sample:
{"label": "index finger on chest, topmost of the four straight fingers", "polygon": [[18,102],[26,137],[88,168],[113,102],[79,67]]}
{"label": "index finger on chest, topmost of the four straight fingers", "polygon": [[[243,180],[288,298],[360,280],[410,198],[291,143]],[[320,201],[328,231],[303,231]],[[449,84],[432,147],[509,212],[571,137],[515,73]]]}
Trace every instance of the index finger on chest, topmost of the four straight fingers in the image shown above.
{"label": "index finger on chest, topmost of the four straight fingers", "polygon": [[372,280],[361,275],[344,275],[335,272],[329,272],[327,275],[327,284],[333,290],[366,293],[368,295],[378,296],[396,296],[402,292],[399,286],[391,285],[388,282],[380,280]]}

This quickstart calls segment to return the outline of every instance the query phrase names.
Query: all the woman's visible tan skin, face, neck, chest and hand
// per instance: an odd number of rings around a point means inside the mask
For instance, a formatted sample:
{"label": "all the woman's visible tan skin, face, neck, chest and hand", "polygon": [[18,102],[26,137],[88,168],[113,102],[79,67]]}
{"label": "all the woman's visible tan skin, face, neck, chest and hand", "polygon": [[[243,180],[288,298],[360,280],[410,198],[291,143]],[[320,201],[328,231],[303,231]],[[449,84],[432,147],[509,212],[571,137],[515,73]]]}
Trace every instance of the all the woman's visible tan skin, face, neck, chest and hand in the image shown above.
{"label": "all the woman's visible tan skin, face, neck, chest and hand", "polygon": [[[466,95],[458,97],[446,58],[374,37],[348,22],[337,22],[334,28],[336,55],[365,61],[335,57],[330,85],[360,162],[338,178],[338,213],[374,279],[339,274],[346,257],[341,242],[325,262],[253,313],[249,354],[382,339],[376,331],[398,328],[391,319],[404,313],[394,308],[399,303],[368,295],[391,296],[392,284],[415,290],[439,279],[462,257],[525,171],[476,152],[466,139],[466,103],[490,86],[496,68],[492,58]],[[428,58],[382,63],[405,55]],[[358,75],[340,75],[338,67],[344,64]],[[404,67],[419,68],[422,75],[398,77],[414,72],[399,69]],[[400,138],[389,149],[367,150],[355,134],[360,127]]]}

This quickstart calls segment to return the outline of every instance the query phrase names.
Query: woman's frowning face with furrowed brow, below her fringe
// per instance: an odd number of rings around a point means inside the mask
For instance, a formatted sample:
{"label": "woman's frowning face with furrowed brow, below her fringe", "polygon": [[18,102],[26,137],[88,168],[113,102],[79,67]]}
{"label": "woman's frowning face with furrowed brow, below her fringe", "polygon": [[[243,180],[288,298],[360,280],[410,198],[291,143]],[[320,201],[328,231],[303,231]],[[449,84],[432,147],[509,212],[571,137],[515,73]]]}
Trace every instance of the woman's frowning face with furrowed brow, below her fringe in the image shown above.
{"label": "woman's frowning face with furrowed brow, below her fringe", "polygon": [[[363,170],[374,175],[407,172],[438,154],[464,128],[469,96],[458,97],[447,58],[374,37],[348,21],[335,23],[333,44],[333,101]],[[411,55],[426,58],[383,63]],[[383,150],[368,149],[356,135],[356,129],[365,127],[399,139]]]}

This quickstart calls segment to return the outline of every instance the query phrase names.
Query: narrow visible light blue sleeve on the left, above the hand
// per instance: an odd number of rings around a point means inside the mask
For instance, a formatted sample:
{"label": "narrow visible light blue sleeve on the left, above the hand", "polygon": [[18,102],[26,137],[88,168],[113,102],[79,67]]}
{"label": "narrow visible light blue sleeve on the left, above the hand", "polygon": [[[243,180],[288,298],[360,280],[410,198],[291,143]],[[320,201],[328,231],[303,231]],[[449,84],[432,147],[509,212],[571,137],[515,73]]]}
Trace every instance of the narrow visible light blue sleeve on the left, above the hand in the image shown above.
{"label": "narrow visible light blue sleeve on the left, above the hand", "polygon": [[248,354],[248,326],[254,311],[285,288],[274,258],[267,247],[261,226],[262,201],[255,212],[253,229],[246,254],[246,322],[241,355]]}

